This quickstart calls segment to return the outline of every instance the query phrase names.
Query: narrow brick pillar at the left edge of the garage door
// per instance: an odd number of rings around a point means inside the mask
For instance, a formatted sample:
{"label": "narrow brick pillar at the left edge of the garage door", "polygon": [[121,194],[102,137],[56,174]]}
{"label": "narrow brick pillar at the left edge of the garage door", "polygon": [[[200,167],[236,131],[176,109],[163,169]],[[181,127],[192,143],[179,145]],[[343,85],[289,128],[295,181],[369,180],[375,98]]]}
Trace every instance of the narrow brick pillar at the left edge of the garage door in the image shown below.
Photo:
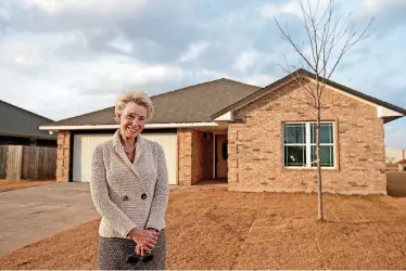
{"label": "narrow brick pillar at the left edge of the garage door", "polygon": [[69,181],[69,151],[71,151],[71,132],[58,132],[58,151],[56,151],[56,181]]}

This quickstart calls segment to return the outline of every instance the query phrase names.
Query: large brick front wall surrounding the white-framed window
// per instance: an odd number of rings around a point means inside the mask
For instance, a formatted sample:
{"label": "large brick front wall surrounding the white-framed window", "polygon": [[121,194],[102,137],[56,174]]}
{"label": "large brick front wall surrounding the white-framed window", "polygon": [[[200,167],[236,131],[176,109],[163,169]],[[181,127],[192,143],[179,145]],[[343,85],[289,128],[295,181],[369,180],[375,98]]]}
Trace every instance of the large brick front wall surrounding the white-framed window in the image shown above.
{"label": "large brick front wall surrounding the white-framed window", "polygon": [[[294,98],[294,99],[292,99]],[[230,190],[315,191],[315,169],[284,169],[282,121],[316,120],[305,90],[290,83],[236,112],[229,124]],[[386,193],[384,130],[377,109],[330,89],[322,120],[334,120],[338,169],[322,170],[325,192]]]}

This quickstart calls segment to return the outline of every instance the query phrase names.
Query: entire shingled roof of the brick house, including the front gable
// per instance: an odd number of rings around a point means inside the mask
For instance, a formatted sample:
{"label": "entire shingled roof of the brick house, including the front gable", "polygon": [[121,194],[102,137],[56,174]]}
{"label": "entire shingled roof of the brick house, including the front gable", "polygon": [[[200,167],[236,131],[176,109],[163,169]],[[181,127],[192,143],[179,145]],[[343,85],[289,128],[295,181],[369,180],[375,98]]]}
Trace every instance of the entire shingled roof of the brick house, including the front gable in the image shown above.
{"label": "entire shingled roof of the brick house, including the front gable", "polygon": [[[313,79],[316,78],[315,74],[305,69],[297,69],[265,88],[221,78],[153,95],[151,100],[155,107],[155,114],[150,124],[212,122],[215,118],[240,108],[281,85],[291,81],[293,76],[297,74]],[[370,103],[406,115],[406,109],[396,105],[383,102],[331,80],[326,80],[326,83]],[[398,117],[401,116],[386,117],[385,121],[388,122]],[[53,128],[96,125],[116,125],[114,120],[114,106],[54,122],[47,122],[41,126]]]}

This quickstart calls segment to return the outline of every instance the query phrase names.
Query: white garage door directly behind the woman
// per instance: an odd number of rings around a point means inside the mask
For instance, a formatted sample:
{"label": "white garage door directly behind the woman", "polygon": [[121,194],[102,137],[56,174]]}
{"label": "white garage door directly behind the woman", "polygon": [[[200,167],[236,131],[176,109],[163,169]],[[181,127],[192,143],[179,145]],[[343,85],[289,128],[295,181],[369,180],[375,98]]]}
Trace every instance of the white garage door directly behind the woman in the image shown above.
{"label": "white garage door directly behind the woman", "polygon": [[[177,184],[177,134],[142,133],[145,139],[158,142],[165,152],[169,184]],[[112,134],[75,134],[73,152],[73,181],[89,182],[91,178],[91,156],[94,147],[112,138]]]}

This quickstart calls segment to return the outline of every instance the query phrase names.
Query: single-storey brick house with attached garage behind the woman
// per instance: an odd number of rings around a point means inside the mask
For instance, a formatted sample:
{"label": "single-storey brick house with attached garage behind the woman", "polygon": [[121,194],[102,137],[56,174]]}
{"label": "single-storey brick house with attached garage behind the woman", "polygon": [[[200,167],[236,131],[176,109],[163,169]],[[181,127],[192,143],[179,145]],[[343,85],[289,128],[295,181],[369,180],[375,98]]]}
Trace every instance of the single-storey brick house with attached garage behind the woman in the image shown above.
{"label": "single-storey brick house with attached garage behind the woman", "polygon": [[[231,191],[310,192],[315,115],[297,102],[305,94],[290,75],[265,88],[204,82],[152,96],[156,113],[143,134],[163,145],[170,184],[218,178]],[[406,111],[333,81],[322,99],[323,191],[386,194],[383,124]],[[89,181],[93,149],[117,128],[114,107],[43,125],[59,131],[58,180]]]}

